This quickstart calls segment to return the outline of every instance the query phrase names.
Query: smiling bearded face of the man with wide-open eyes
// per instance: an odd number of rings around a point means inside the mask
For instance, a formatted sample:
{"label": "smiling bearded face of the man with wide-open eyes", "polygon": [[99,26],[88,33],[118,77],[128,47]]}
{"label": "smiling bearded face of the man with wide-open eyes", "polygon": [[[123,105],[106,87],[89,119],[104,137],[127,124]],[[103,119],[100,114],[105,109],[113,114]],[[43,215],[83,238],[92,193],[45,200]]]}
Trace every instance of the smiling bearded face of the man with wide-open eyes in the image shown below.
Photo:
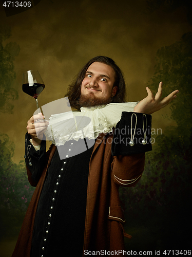
{"label": "smiling bearded face of the man with wide-open eyes", "polygon": [[116,95],[118,87],[113,87],[115,72],[107,64],[94,62],[85,74],[81,85],[81,106],[107,104]]}

